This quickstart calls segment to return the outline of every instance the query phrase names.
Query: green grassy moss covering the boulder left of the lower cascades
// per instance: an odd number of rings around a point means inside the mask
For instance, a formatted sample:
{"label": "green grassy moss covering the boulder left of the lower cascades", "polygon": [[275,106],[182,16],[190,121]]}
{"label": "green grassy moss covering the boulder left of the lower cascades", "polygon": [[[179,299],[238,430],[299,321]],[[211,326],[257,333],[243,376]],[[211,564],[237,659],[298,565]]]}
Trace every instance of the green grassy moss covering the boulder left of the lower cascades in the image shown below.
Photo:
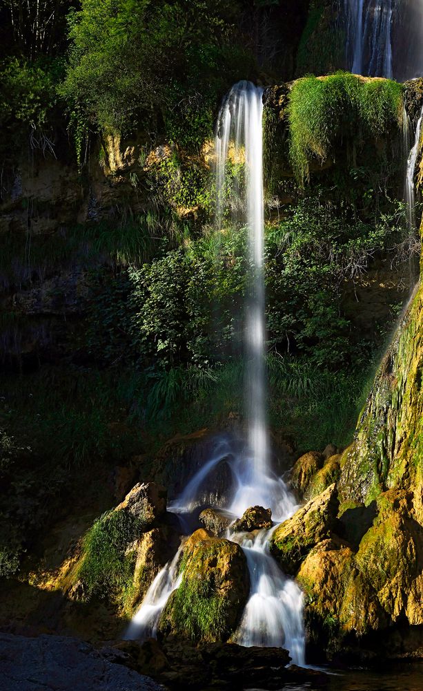
{"label": "green grassy moss covering the boulder left of the lower cascades", "polygon": [[128,547],[139,538],[144,523],[121,509],[108,511],[92,525],[83,538],[82,556],[75,580],[83,583],[84,597],[119,598],[130,596],[135,553]]}

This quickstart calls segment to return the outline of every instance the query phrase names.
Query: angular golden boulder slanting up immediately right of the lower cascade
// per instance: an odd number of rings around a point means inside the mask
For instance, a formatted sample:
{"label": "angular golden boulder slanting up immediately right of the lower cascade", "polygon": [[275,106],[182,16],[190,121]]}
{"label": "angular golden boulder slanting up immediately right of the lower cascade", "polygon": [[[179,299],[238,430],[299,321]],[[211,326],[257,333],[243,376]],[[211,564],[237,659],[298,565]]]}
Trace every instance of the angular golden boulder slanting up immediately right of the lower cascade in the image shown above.
{"label": "angular golden boulder slanting up immediately right of the lower cascade", "polygon": [[270,540],[270,551],[286,574],[295,576],[302,560],[337,528],[339,502],[335,484],[280,524]]}

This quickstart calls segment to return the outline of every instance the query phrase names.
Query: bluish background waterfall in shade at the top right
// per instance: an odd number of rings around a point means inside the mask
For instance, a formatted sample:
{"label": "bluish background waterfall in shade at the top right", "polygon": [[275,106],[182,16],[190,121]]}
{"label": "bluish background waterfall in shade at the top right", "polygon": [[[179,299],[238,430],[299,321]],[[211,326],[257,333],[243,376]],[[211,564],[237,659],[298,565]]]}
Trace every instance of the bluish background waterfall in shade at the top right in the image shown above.
{"label": "bluish background waterfall in shade at the top right", "polygon": [[393,77],[395,0],[344,0],[348,70],[370,77]]}

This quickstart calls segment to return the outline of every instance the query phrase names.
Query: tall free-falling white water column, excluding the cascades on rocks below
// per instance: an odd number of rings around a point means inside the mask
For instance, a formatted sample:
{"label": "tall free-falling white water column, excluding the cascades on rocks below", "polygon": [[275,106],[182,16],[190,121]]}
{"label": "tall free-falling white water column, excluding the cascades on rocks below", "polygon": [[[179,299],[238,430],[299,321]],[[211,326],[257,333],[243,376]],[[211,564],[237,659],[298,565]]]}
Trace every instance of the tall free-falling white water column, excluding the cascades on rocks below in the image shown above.
{"label": "tall free-falling white water column, excluding the cascades on rocks below", "polygon": [[[246,309],[246,408],[252,466],[250,482],[268,468],[264,323],[263,90],[251,82],[231,88],[219,113],[216,151],[217,224],[222,227],[229,143],[237,161],[244,161],[246,224],[250,259],[250,299]],[[236,187],[239,190],[239,182]],[[246,506],[245,508],[248,508]]]}

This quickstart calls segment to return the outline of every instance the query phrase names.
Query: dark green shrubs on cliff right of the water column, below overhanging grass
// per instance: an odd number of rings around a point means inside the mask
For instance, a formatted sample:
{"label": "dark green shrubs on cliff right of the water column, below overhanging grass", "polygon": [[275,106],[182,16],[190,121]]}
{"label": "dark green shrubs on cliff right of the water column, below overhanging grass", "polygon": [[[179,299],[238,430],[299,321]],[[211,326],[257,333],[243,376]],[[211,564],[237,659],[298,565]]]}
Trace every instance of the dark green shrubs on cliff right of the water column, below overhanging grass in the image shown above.
{"label": "dark green shrubs on cliff right of the water column, below overhanging grass", "polygon": [[329,369],[348,361],[360,367],[363,353],[342,312],[342,283],[357,280],[377,252],[400,244],[406,233],[402,205],[375,221],[361,220],[355,205],[332,202],[318,189],[299,202],[267,232],[270,345],[281,350],[285,342]]}

